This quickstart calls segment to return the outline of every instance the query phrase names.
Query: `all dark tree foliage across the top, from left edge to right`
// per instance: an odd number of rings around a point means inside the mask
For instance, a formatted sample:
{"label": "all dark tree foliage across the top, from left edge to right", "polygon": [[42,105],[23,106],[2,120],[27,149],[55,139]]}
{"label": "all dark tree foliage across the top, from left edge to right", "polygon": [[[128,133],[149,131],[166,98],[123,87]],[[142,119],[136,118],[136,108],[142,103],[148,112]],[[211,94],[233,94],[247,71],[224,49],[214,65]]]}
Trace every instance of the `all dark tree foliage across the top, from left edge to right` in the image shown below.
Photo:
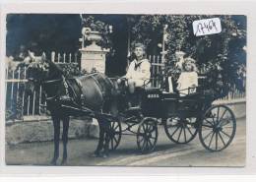
{"label": "all dark tree foliage across the top, from left edge to right", "polygon": [[[109,38],[108,25],[117,16],[113,15],[84,15],[86,22],[81,21],[80,15],[69,14],[9,14],[7,16],[7,55],[14,55],[19,46],[29,46],[37,42],[41,51],[50,54],[55,52],[77,52],[81,43],[82,26],[89,26],[93,30],[103,33],[100,45],[104,48],[122,46],[126,44],[125,29],[131,30],[130,37],[133,41],[144,42],[149,54],[160,53],[164,25],[167,25],[165,39],[165,60],[169,66],[175,61],[175,51],[186,52],[197,60],[199,70],[204,70],[214,78],[220,72],[224,83],[232,88],[244,89],[244,76],[246,71],[246,17],[229,15],[122,15],[126,17],[128,28],[122,28],[112,44]],[[108,19],[107,19],[108,17]],[[119,17],[121,17],[119,15]],[[201,19],[219,17],[222,22],[222,32],[204,36],[195,36],[192,23]],[[100,18],[100,19],[99,19]],[[104,19],[102,19],[104,18]],[[107,21],[103,21],[107,20]],[[122,19],[123,21],[123,19]],[[107,23],[106,23],[107,22]],[[113,28],[114,30],[115,28]],[[112,33],[113,35],[113,33]],[[125,47],[126,48],[126,47]],[[119,49],[118,49],[119,50]],[[125,53],[124,53],[125,54]],[[126,55],[117,58],[123,59]],[[111,57],[112,59],[112,57]],[[212,79],[214,82],[214,79]]]}

